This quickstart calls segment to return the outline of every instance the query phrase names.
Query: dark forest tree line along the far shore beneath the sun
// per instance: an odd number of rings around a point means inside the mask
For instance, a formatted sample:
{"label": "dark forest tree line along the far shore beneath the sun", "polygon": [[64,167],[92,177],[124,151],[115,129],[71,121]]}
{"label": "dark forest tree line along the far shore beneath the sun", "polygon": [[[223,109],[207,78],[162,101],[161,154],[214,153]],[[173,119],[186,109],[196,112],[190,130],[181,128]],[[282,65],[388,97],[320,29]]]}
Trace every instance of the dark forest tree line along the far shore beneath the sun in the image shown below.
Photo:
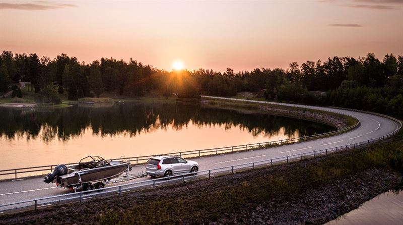
{"label": "dark forest tree line along the far shore beneath the sun", "polygon": [[66,54],[51,60],[3,51],[0,93],[19,81],[30,81],[37,93],[58,92],[68,99],[115,96],[141,97],[150,92],[183,98],[199,95],[235,96],[252,92],[267,100],[340,106],[403,118],[403,57],[373,53],[364,58],[332,57],[325,62],[290,63],[288,69],[256,68],[224,72],[207,69],[166,71],[130,59],[102,58],[90,64]]}

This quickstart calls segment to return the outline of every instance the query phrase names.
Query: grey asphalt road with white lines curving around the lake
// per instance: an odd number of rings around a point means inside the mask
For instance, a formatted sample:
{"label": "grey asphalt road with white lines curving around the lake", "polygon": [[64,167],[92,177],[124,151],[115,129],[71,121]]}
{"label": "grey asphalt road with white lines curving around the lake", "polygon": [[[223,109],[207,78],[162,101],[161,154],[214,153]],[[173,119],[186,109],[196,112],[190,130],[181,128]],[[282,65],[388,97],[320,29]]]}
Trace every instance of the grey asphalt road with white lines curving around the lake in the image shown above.
{"label": "grey asphalt road with white lines curving around the lake", "polygon": [[[326,107],[317,106],[307,106],[307,105],[297,105],[297,104],[286,104],[277,102],[265,102],[265,101],[253,101],[253,100],[243,100],[243,99],[232,99],[232,98],[221,98],[221,97],[210,97],[203,96],[205,98],[217,98],[217,99],[227,99],[227,100],[239,100],[239,101],[249,101],[256,103],[273,103],[288,106],[297,106],[304,108],[312,108],[318,110],[334,111],[335,113],[346,114],[356,117],[360,120],[361,126],[357,129],[343,133],[340,135],[325,137],[321,139],[297,142],[294,144],[259,149],[250,150],[244,152],[234,152],[230,154],[205,156],[196,159],[199,163],[199,170],[210,170],[213,168],[237,165],[247,162],[260,161],[264,159],[271,159],[295,154],[301,154],[305,152],[312,152],[315,150],[335,148],[338,146],[345,146],[349,144],[359,143],[362,141],[367,141],[374,138],[379,138],[394,132],[399,128],[399,124],[393,120],[387,119],[385,117],[361,113],[357,111],[350,111],[345,109],[333,109]],[[144,170],[143,165],[133,166],[134,173],[141,173]],[[135,179],[125,183],[117,183],[114,185],[126,184],[129,182],[138,182],[141,180],[152,179],[150,177]],[[111,186],[111,185],[109,185]],[[43,182],[42,177],[27,178],[27,179],[17,179],[13,181],[0,181],[0,205],[19,202],[24,200],[31,200],[36,198],[42,198],[47,196],[54,196],[60,194],[71,193],[68,189],[60,189],[55,187],[55,184],[46,184]],[[1,213],[1,212],[0,212]]]}

